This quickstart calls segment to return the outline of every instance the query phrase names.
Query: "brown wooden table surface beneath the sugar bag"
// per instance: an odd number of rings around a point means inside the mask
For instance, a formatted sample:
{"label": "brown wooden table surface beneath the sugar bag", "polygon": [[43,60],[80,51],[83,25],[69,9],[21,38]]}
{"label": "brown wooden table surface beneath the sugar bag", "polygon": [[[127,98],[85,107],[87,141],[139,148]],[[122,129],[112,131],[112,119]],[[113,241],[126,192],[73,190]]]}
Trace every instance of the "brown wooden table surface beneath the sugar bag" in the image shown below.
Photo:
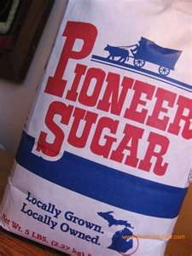
{"label": "brown wooden table surface beneath the sugar bag", "polygon": [[[7,178],[14,162],[14,156],[0,150],[0,201]],[[192,187],[183,204],[181,215],[178,219],[174,234],[185,235],[185,240],[171,240],[166,248],[165,256],[192,256]],[[188,226],[189,225],[189,226]],[[191,233],[190,233],[191,230]],[[39,245],[20,236],[10,234],[0,229],[0,256],[59,256],[67,255],[48,247]],[[104,256],[104,255],[96,255]],[[142,255],[141,255],[142,256]],[[155,255],[148,255],[155,256]]]}

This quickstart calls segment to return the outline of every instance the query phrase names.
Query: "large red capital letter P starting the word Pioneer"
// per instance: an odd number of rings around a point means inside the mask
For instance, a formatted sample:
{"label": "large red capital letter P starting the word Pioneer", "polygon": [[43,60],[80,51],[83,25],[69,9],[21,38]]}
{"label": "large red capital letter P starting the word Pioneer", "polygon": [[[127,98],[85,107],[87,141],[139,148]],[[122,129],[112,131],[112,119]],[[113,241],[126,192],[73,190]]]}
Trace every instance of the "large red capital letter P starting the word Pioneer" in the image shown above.
{"label": "large red capital letter P starting the word Pioneer", "polygon": [[[96,26],[89,23],[67,21],[67,26],[63,33],[66,42],[63,46],[61,57],[55,70],[54,77],[49,77],[45,92],[62,97],[67,80],[62,79],[69,59],[79,60],[90,55],[97,36]],[[77,39],[83,40],[84,44],[80,51],[74,51],[73,46]]]}

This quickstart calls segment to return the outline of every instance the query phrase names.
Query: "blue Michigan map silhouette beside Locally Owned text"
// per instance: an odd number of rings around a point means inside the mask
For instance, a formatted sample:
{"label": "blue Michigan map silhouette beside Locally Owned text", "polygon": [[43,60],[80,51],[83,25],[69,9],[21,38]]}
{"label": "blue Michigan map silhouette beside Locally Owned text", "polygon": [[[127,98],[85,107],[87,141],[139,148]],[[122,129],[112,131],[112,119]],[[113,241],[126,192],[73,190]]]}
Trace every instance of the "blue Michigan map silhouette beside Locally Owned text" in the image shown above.
{"label": "blue Michigan map silhouette beside Locally Owned text", "polygon": [[[112,211],[110,212],[97,212],[97,214],[108,221],[108,227],[123,226],[124,228],[116,231],[113,234],[111,244],[108,246],[109,249],[120,253],[123,256],[128,256],[136,253],[138,248],[137,236],[134,236],[131,226],[126,220],[113,218]],[[128,253],[128,254],[127,254]]]}

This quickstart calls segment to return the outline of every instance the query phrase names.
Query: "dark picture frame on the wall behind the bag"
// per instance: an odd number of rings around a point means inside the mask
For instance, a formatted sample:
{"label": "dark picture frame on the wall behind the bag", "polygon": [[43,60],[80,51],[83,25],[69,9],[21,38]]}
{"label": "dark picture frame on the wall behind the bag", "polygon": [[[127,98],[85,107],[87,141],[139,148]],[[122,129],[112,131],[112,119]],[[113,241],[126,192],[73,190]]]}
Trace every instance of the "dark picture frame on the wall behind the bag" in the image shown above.
{"label": "dark picture frame on the wall behind the bag", "polygon": [[6,41],[9,44],[0,48],[0,79],[21,83],[30,67],[54,0],[17,1],[20,3],[9,32],[0,34],[0,39],[9,39]]}

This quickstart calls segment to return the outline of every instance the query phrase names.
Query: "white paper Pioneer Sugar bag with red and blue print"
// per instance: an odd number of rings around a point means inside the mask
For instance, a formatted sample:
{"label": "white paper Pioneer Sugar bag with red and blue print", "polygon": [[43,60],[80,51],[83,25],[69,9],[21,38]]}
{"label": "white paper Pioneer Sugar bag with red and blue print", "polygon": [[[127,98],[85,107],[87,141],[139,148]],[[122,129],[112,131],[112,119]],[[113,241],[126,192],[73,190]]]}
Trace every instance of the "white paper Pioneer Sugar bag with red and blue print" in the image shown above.
{"label": "white paper Pioneer Sugar bag with red and blue print", "polygon": [[80,256],[160,256],[192,167],[192,16],[178,1],[71,0],[0,208]]}

